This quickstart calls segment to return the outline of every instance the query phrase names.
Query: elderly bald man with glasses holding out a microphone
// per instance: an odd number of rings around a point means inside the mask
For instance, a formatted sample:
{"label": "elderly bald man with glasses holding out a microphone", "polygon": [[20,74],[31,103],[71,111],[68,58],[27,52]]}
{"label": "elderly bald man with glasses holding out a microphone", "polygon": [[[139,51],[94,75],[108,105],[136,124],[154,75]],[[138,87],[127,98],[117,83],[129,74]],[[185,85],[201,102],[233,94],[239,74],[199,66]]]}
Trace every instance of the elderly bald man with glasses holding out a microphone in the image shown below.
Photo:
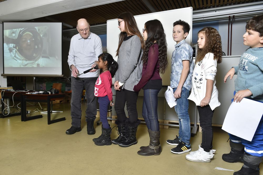
{"label": "elderly bald man with glasses holding out a microphone", "polygon": [[98,35],[90,32],[87,19],[78,20],[77,30],[79,33],[71,38],[68,55],[68,65],[72,71],[72,97],[70,102],[72,126],[66,131],[66,134],[81,131],[81,97],[84,88],[87,96],[85,115],[87,132],[88,134],[95,134],[93,124],[97,115],[97,98],[94,96],[94,86],[99,76],[99,70],[92,69],[86,74],[81,73],[97,65],[98,56],[102,53],[102,43]]}

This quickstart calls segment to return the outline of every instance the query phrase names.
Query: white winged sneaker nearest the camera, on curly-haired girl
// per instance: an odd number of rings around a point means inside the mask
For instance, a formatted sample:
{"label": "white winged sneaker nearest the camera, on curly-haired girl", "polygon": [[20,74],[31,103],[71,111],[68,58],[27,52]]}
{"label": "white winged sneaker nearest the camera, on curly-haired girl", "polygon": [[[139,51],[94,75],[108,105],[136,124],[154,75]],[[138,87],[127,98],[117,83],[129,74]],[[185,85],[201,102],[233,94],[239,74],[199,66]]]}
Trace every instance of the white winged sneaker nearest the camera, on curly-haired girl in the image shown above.
{"label": "white winged sneaker nearest the camera, on curly-haired girl", "polygon": [[[213,151],[213,150],[212,150]],[[210,151],[210,152],[212,152]],[[210,155],[210,152],[205,152],[203,148],[199,145],[199,149],[197,151],[191,152],[185,156],[185,158],[192,162],[211,162],[211,158],[213,158],[214,154]]]}

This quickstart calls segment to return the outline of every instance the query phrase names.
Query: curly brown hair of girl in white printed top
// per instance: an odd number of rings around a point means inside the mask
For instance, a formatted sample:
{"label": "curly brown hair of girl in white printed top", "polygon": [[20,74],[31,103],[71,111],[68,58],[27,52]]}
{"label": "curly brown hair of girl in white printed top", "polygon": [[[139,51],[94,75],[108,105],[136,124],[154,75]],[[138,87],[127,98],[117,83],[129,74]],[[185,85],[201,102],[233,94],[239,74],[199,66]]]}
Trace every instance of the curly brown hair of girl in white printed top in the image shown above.
{"label": "curly brown hair of girl in white printed top", "polygon": [[217,60],[217,63],[222,62],[222,43],[219,32],[213,27],[205,27],[199,30],[198,33],[202,32],[205,35],[205,45],[203,49],[197,50],[197,56],[195,63],[203,60],[205,54],[211,52],[214,54],[214,59]]}

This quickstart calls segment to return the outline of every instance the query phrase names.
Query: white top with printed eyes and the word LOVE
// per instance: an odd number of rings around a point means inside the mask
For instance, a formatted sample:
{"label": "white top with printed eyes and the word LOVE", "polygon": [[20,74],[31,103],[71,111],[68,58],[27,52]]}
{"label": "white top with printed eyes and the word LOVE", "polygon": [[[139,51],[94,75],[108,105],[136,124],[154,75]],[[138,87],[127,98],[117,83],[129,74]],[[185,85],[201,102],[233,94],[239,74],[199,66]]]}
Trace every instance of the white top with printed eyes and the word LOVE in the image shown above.
{"label": "white top with printed eyes and the word LOVE", "polygon": [[196,106],[200,106],[201,100],[205,97],[206,79],[214,80],[212,95],[209,103],[211,110],[220,106],[220,102],[218,101],[218,90],[215,86],[215,76],[217,72],[216,65],[217,60],[214,59],[213,53],[207,53],[203,60],[195,64],[192,75],[192,91],[188,99],[194,101]]}

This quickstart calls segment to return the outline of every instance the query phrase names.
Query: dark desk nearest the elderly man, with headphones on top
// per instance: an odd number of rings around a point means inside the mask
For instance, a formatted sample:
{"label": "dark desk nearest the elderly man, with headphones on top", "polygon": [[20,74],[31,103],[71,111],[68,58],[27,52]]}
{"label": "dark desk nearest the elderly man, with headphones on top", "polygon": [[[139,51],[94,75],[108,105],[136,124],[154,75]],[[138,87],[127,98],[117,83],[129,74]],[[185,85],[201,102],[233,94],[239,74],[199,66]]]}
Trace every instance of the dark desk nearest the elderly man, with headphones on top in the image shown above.
{"label": "dark desk nearest the elderly man, with headphones on top", "polygon": [[26,102],[31,101],[31,102],[45,102],[47,103],[47,115],[48,115],[48,125],[59,122],[59,121],[64,121],[66,120],[65,117],[51,120],[50,119],[50,101],[51,100],[57,100],[64,98],[65,94],[60,93],[60,94],[22,94],[22,99],[21,99],[21,120],[22,121],[28,121],[28,120],[33,120],[33,119],[39,119],[42,118],[42,115],[36,115],[36,116],[31,116],[27,117],[26,114]]}

